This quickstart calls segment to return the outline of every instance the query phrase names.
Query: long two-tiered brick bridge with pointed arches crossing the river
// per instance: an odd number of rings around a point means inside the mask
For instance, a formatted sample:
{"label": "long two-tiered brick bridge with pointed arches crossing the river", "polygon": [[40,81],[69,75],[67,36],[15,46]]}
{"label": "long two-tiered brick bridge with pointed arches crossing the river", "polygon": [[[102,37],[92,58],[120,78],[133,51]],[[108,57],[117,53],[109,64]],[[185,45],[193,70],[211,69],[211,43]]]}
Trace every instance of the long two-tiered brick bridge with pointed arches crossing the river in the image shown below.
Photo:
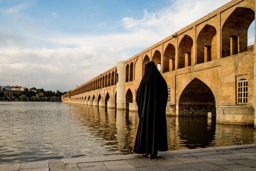
{"label": "long two-tiered brick bridge with pointed arches crossing the river", "polygon": [[154,61],[168,85],[167,115],[211,113],[218,123],[256,127],[256,58],[254,45],[247,45],[254,8],[254,0],[232,0],[126,61],[118,61],[62,100],[137,110],[136,91],[145,64]]}

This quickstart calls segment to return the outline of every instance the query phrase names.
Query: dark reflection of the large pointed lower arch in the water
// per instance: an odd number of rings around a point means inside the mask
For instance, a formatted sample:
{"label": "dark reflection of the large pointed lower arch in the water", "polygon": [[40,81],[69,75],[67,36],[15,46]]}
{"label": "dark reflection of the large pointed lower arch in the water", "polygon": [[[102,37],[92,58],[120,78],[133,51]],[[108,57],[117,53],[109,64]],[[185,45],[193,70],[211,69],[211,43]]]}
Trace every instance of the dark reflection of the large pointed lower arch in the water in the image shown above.
{"label": "dark reflection of the large pointed lower arch in the water", "polygon": [[189,149],[214,146],[216,121],[207,117],[178,117],[180,146]]}

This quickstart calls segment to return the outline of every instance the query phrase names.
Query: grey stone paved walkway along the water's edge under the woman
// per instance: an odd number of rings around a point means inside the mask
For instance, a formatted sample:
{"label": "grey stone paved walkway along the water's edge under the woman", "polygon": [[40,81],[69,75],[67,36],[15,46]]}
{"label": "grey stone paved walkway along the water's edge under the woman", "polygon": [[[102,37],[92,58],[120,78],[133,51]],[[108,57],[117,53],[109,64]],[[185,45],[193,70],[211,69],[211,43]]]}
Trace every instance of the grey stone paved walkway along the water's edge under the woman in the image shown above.
{"label": "grey stone paved walkway along the water's edge under the woman", "polygon": [[256,144],[0,165],[0,171],[255,171]]}

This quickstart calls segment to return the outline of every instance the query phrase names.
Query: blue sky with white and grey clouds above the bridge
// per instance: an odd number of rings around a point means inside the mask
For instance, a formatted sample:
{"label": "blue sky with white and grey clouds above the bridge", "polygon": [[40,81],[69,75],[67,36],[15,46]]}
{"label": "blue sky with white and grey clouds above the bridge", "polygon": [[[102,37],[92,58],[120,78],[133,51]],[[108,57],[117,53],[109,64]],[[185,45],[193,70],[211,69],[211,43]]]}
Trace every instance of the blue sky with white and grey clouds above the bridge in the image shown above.
{"label": "blue sky with white and grey clouds above the bridge", "polygon": [[228,2],[0,0],[0,85],[72,90]]}

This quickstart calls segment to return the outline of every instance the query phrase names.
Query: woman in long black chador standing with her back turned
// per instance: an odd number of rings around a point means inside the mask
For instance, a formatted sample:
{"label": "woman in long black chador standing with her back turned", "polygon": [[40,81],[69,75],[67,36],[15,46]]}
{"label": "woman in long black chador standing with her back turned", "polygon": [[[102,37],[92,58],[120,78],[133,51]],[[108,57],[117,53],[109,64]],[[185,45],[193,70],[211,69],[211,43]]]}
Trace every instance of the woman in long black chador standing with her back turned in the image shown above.
{"label": "woman in long black chador standing with her back turned", "polygon": [[167,151],[167,84],[154,62],[145,66],[145,73],[137,90],[139,126],[134,152],[145,158],[156,158],[157,151]]}

